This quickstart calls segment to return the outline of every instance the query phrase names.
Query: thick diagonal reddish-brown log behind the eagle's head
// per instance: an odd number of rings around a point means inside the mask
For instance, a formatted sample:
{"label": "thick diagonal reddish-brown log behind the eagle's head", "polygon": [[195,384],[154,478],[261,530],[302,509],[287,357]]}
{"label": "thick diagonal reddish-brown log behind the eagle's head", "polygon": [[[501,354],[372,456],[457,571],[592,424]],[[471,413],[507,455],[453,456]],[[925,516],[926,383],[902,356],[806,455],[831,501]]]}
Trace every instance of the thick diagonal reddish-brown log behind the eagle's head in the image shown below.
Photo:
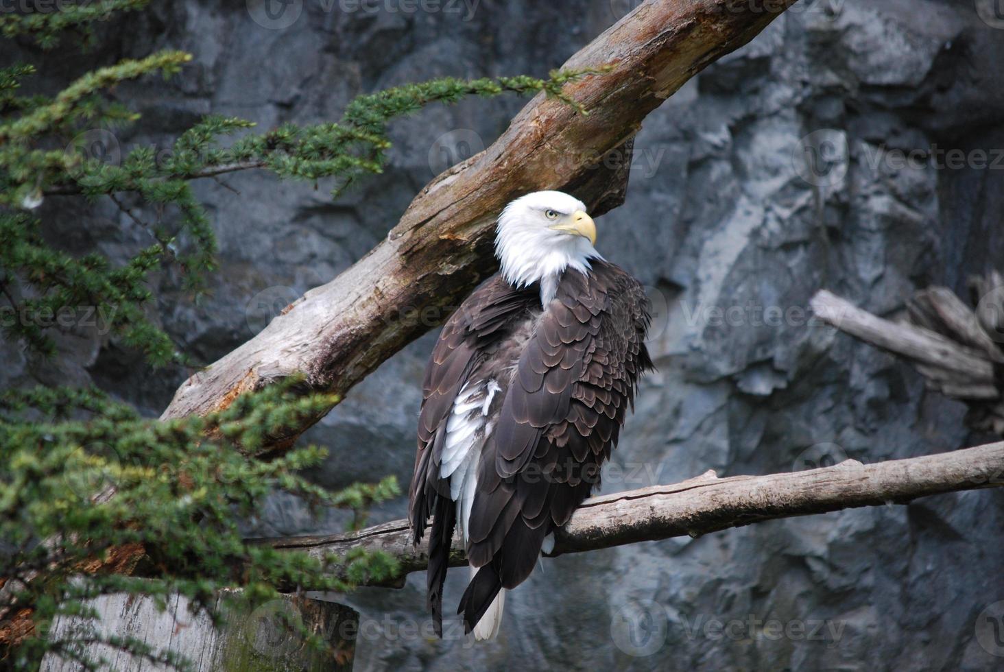
{"label": "thick diagonal reddish-brown log behind the eagle's head", "polygon": [[[182,385],[162,419],[226,408],[242,392],[293,375],[306,377],[303,392],[343,394],[441,323],[495,272],[492,232],[509,200],[563,189],[594,213],[618,205],[630,166],[620,161],[608,169],[600,158],[631,142],[646,116],[685,81],[793,3],[783,0],[770,9],[735,0],[640,5],[564,64],[612,65],[565,88],[588,116],[542,94],[534,97],[491,147],[423,189],[387,240]],[[405,317],[416,309],[421,319]],[[272,437],[269,446],[288,447],[307,426]]]}

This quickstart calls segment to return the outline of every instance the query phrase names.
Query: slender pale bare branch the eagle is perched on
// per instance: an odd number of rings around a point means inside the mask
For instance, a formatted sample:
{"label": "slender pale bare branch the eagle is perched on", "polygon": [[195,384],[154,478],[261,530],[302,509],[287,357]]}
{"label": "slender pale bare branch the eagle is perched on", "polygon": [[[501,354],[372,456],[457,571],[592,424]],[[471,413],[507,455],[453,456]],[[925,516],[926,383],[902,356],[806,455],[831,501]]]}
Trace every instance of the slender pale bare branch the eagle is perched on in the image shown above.
{"label": "slender pale bare branch the eagle is perched on", "polygon": [[[761,520],[824,513],[858,506],[905,504],[918,497],[1004,485],[1004,442],[949,453],[861,464],[845,460],[821,469],[768,476],[718,478],[709,471],[675,485],[618,492],[586,499],[555,534],[550,555],[699,536]],[[344,553],[351,548],[383,550],[401,563],[393,582],[426,569],[424,542],[411,543],[407,520],[395,520],[348,535],[262,539],[276,548],[311,554]],[[463,544],[454,537],[451,565],[466,565]]]}

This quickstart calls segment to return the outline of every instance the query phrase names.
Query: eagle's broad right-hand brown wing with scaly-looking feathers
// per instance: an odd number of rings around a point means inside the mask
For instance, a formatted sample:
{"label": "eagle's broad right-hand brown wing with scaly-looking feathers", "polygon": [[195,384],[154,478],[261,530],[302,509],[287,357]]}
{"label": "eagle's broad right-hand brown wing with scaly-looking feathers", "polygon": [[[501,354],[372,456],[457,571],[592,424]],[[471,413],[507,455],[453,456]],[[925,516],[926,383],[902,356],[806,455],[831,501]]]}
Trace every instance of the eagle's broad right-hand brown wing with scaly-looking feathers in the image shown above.
{"label": "eagle's broad right-hand brown wing with scaly-looking feathers", "polygon": [[620,268],[569,271],[523,349],[478,465],[461,600],[468,631],[502,588],[533,570],[544,537],[599,482],[639,376],[649,303]]}

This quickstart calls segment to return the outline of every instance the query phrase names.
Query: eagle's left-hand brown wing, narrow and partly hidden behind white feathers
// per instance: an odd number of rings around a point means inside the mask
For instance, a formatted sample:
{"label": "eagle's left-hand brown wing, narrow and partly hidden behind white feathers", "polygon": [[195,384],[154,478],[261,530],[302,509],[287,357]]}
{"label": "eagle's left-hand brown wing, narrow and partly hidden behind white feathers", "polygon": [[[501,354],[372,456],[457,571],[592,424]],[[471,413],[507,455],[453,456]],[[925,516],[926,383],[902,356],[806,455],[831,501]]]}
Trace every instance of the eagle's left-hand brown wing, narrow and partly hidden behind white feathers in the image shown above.
{"label": "eagle's left-hand brown wing, narrow and partly hidden behind white feathers", "polygon": [[[413,539],[422,540],[433,514],[429,549],[428,606],[437,633],[442,634],[443,582],[450,559],[456,508],[449,479],[440,478],[440,459],[447,420],[457,394],[471,372],[511,329],[539,305],[536,287],[515,289],[496,275],[476,289],[443,325],[426,368],[419,414],[419,447],[409,490]],[[539,307],[537,308],[539,311]]]}

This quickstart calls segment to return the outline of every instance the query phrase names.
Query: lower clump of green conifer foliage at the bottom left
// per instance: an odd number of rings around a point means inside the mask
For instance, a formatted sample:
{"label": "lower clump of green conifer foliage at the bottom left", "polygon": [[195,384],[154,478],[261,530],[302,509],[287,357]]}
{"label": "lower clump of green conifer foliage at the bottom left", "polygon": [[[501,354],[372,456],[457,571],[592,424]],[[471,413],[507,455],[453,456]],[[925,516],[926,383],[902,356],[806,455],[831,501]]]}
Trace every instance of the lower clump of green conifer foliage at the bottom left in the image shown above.
{"label": "lower clump of green conifer foliage at the bottom left", "polygon": [[[314,507],[352,509],[357,524],[366,507],[399,493],[394,478],[340,492],[310,483],[298,474],[325,457],[316,446],[254,459],[262,436],[337,401],[294,396],[292,384],[242,396],[220,413],[172,422],[140,418],[93,391],[0,397],[0,576],[7,582],[0,609],[32,608],[35,629],[7,652],[7,662],[23,669],[49,651],[98,664],[88,654],[94,642],[44,635],[57,616],[93,617],[84,601],[108,593],[144,594],[164,604],[180,594],[218,618],[222,588],[241,587],[231,600],[257,605],[282,587],[347,591],[353,579],[393,575],[395,562],[381,553],[315,558],[242,538],[238,520],[259,513],[274,490]],[[128,638],[102,642],[151,660],[184,662]]]}

